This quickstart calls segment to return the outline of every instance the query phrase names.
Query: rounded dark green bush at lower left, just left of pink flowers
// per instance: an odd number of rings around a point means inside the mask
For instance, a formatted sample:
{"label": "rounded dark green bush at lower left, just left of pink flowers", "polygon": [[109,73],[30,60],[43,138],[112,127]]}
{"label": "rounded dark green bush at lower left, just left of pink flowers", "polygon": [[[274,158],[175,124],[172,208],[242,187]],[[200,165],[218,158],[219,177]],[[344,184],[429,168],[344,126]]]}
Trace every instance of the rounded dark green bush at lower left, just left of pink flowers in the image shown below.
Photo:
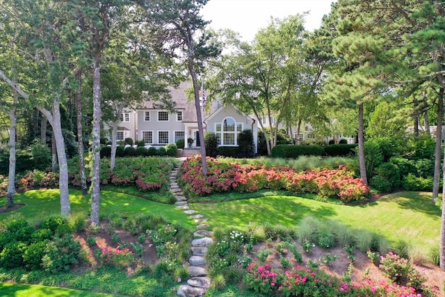
{"label": "rounded dark green bush at lower left, just left of pink flowers", "polygon": [[72,265],[79,263],[81,245],[71,234],[56,237],[44,249],[42,266],[46,271],[58,273],[70,271]]}

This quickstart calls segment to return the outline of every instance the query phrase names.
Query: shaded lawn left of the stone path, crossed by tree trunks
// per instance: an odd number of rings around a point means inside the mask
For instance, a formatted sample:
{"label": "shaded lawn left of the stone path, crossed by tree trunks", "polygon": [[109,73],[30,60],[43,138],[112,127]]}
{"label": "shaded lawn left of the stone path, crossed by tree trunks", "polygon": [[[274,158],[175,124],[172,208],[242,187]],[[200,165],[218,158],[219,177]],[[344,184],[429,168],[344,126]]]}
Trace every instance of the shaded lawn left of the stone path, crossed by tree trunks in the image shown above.
{"label": "shaded lawn left of the stone path, crossed by tree trunks", "polygon": [[[0,214],[0,220],[11,214],[23,214],[31,223],[38,222],[51,214],[60,214],[60,194],[58,189],[33,190],[15,195],[16,204],[25,204],[24,207],[13,211],[13,213]],[[6,198],[0,199],[0,205],[4,205]],[[70,202],[72,213],[90,212],[90,195],[82,197],[81,191],[70,190]],[[184,211],[175,208],[171,204],[161,204],[133,195],[101,191],[100,216],[108,216],[119,212],[123,217],[148,211],[154,214],[166,216],[171,223],[180,223],[186,227],[193,227],[193,222]]]}

